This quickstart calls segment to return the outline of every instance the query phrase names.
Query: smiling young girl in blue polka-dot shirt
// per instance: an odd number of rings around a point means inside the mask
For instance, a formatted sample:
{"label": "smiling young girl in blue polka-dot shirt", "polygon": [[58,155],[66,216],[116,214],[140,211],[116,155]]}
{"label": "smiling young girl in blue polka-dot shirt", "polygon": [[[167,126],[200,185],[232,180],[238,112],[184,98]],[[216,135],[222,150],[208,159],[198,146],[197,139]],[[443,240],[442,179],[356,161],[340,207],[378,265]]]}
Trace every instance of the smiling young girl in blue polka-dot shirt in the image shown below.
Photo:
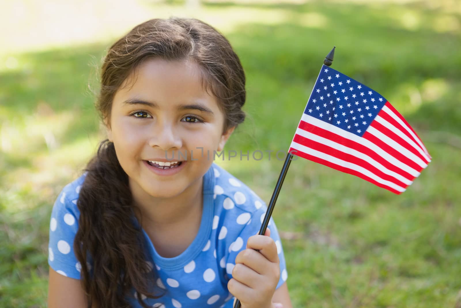
{"label": "smiling young girl in blue polka-dot shirt", "polygon": [[257,235],[266,205],[213,163],[244,103],[239,58],[199,20],[152,19],[112,45],[108,139],[53,206],[48,307],[291,307],[272,219]]}

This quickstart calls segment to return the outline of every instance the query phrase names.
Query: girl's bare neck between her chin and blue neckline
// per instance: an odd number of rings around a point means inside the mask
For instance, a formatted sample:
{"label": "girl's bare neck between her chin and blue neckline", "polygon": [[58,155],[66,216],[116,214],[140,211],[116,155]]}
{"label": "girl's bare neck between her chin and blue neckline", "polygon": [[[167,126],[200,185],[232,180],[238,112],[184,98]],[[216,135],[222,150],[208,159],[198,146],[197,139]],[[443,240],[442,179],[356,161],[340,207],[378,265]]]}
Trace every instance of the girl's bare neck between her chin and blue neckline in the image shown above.
{"label": "girl's bare neck between her chin and blue neckline", "polygon": [[[188,223],[201,221],[203,204],[203,177],[187,187],[182,193],[171,198],[156,198],[130,181],[134,205],[142,215],[136,217],[143,229],[165,230],[183,227]],[[136,212],[135,212],[136,213]],[[138,213],[136,213],[136,216]]]}

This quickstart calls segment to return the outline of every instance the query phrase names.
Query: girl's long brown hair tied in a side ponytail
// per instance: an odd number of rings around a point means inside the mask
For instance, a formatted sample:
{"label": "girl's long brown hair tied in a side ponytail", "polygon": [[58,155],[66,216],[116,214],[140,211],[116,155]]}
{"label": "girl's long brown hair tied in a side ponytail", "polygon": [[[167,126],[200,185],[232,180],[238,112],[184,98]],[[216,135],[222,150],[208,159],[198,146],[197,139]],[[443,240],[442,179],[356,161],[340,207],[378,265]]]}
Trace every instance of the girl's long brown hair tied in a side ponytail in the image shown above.
{"label": "girl's long brown hair tied in a side ponytail", "polygon": [[[225,114],[223,131],[245,119],[245,74],[229,41],[200,20],[169,18],[137,25],[109,48],[95,103],[106,125],[110,126],[116,91],[142,61],[153,57],[192,60],[201,67],[202,85],[218,98]],[[113,143],[102,141],[84,171],[74,250],[82,265],[88,307],[129,307],[125,296],[134,296],[129,294],[132,287],[136,294],[159,298],[162,294],[152,290],[155,278],[150,272],[152,265],[146,263],[142,229],[130,219],[136,207]],[[90,258],[91,268],[87,266]],[[142,307],[148,307],[142,296],[136,297]]]}

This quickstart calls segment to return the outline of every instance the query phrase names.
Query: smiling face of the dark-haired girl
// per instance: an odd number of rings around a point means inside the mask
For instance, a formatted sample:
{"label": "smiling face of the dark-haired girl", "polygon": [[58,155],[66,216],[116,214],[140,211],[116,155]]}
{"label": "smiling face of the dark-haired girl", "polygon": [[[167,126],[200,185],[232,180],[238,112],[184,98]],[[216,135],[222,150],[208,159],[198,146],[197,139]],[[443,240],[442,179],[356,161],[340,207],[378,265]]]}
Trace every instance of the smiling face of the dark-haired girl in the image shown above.
{"label": "smiling face of the dark-haired girl", "polygon": [[[198,185],[213,151],[231,135],[233,128],[223,133],[225,115],[202,88],[200,72],[193,62],[149,59],[134,85],[128,78],[116,92],[107,134],[133,193],[169,198]],[[180,163],[165,169],[171,162]]]}

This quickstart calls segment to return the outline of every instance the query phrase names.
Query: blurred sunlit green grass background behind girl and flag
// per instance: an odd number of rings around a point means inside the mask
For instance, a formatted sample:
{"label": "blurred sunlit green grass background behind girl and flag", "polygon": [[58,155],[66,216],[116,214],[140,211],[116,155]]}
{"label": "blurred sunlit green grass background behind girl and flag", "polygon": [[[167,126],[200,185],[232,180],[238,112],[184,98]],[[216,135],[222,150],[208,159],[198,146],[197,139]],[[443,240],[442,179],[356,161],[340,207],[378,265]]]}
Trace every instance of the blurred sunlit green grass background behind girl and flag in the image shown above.
{"label": "blurred sunlit green grass background behind girl and flag", "polygon": [[[247,75],[227,149],[288,149],[325,55],[386,97],[432,162],[402,195],[304,159],[273,213],[297,308],[461,307],[461,1],[6,0],[0,4],[0,307],[46,307],[54,200],[105,135],[107,48],[150,18],[223,32]],[[251,156],[250,156],[251,157]],[[218,161],[267,203],[283,161]]]}

